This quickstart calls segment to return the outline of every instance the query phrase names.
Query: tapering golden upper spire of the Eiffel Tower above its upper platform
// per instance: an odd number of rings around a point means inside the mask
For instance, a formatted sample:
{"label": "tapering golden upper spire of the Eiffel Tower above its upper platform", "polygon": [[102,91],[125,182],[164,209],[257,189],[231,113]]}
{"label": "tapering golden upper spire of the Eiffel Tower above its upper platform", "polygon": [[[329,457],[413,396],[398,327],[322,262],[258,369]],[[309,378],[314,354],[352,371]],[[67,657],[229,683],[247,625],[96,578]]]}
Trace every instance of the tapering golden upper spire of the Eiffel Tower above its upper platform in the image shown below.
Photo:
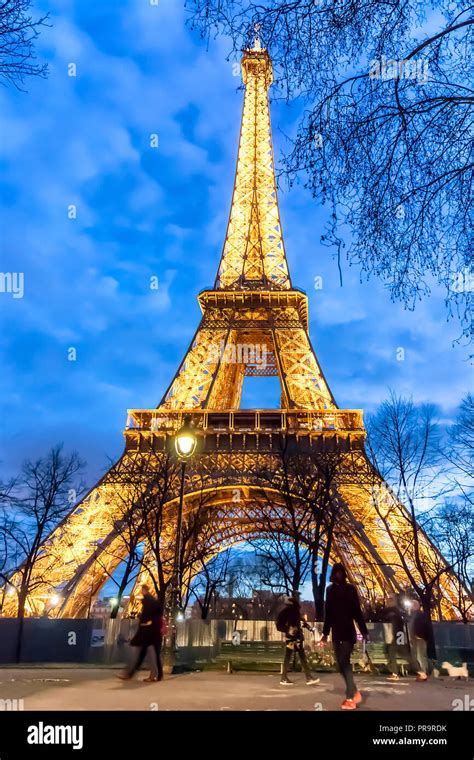
{"label": "tapering golden upper spire of the Eiffel Tower above its upper platform", "polygon": [[291,288],[280,223],[268,88],[272,63],[255,28],[254,47],[244,51],[245,84],[239,151],[227,233],[216,289]]}

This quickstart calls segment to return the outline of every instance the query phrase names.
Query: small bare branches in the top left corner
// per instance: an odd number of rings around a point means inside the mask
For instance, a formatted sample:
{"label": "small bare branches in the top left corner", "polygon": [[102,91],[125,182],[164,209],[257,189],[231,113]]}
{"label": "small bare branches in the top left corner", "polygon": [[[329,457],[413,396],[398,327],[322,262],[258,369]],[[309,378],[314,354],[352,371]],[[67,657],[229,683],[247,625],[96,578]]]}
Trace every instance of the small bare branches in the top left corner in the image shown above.
{"label": "small bare branches in the top left corner", "polygon": [[26,77],[45,77],[48,69],[36,62],[34,43],[41,27],[49,26],[49,13],[33,18],[31,7],[31,0],[0,2],[0,79],[18,90]]}

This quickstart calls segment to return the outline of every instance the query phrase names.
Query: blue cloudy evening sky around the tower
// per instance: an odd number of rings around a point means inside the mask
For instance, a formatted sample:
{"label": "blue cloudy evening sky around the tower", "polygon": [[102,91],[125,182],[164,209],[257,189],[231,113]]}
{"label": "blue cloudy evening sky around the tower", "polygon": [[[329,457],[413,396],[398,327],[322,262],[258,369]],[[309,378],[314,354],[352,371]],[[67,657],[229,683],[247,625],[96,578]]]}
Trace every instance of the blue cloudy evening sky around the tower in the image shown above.
{"label": "blue cloudy evening sky around the tower", "polygon": [[[63,441],[88,461],[92,485],[121,451],[127,408],[156,406],[197,326],[196,295],[214,280],[225,235],[242,93],[230,44],[207,51],[183,5],[38,1],[36,12],[51,12],[37,43],[49,78],[28,80],[27,93],[0,88],[1,271],[25,277],[23,298],[0,293],[4,474]],[[277,160],[298,113],[272,104]],[[450,420],[469,366],[443,293],[405,311],[346,263],[341,288],[320,243],[326,210],[302,186],[283,187],[280,207],[339,406],[373,410],[393,388]],[[260,383],[247,405],[276,402]]]}

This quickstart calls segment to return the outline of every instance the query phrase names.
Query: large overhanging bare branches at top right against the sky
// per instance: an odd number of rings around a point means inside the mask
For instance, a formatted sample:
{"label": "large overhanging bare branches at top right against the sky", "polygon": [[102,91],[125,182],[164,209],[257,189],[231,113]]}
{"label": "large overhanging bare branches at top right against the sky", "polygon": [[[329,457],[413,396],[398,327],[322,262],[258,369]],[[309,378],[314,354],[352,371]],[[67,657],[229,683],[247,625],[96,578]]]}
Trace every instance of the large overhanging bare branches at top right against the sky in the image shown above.
{"label": "large overhanging bare branches at top right against the sky", "polygon": [[[208,40],[271,52],[306,108],[285,159],[331,211],[323,242],[409,308],[433,278],[470,331],[472,6],[434,0],[188,0]],[[341,273],[342,284],[342,273]]]}

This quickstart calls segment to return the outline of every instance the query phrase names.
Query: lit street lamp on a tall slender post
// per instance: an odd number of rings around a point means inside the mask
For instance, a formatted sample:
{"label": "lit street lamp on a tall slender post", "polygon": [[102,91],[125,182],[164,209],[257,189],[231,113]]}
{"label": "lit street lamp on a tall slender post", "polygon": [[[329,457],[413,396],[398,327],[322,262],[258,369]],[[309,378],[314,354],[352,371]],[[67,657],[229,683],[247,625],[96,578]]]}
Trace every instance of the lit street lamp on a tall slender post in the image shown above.
{"label": "lit street lamp on a tall slender post", "polygon": [[[186,475],[186,464],[196,451],[197,437],[193,430],[191,418],[185,417],[183,426],[174,436],[174,445],[176,454],[181,462],[181,484],[179,489],[178,518],[176,523],[176,542],[174,548],[173,575],[171,577],[171,595],[170,595],[170,627],[171,627],[171,652],[176,651],[176,621],[181,618],[182,611],[180,605],[181,591],[181,543],[182,543],[182,524],[183,524],[183,501],[184,501],[184,479]],[[182,619],[182,618],[181,618]]]}

